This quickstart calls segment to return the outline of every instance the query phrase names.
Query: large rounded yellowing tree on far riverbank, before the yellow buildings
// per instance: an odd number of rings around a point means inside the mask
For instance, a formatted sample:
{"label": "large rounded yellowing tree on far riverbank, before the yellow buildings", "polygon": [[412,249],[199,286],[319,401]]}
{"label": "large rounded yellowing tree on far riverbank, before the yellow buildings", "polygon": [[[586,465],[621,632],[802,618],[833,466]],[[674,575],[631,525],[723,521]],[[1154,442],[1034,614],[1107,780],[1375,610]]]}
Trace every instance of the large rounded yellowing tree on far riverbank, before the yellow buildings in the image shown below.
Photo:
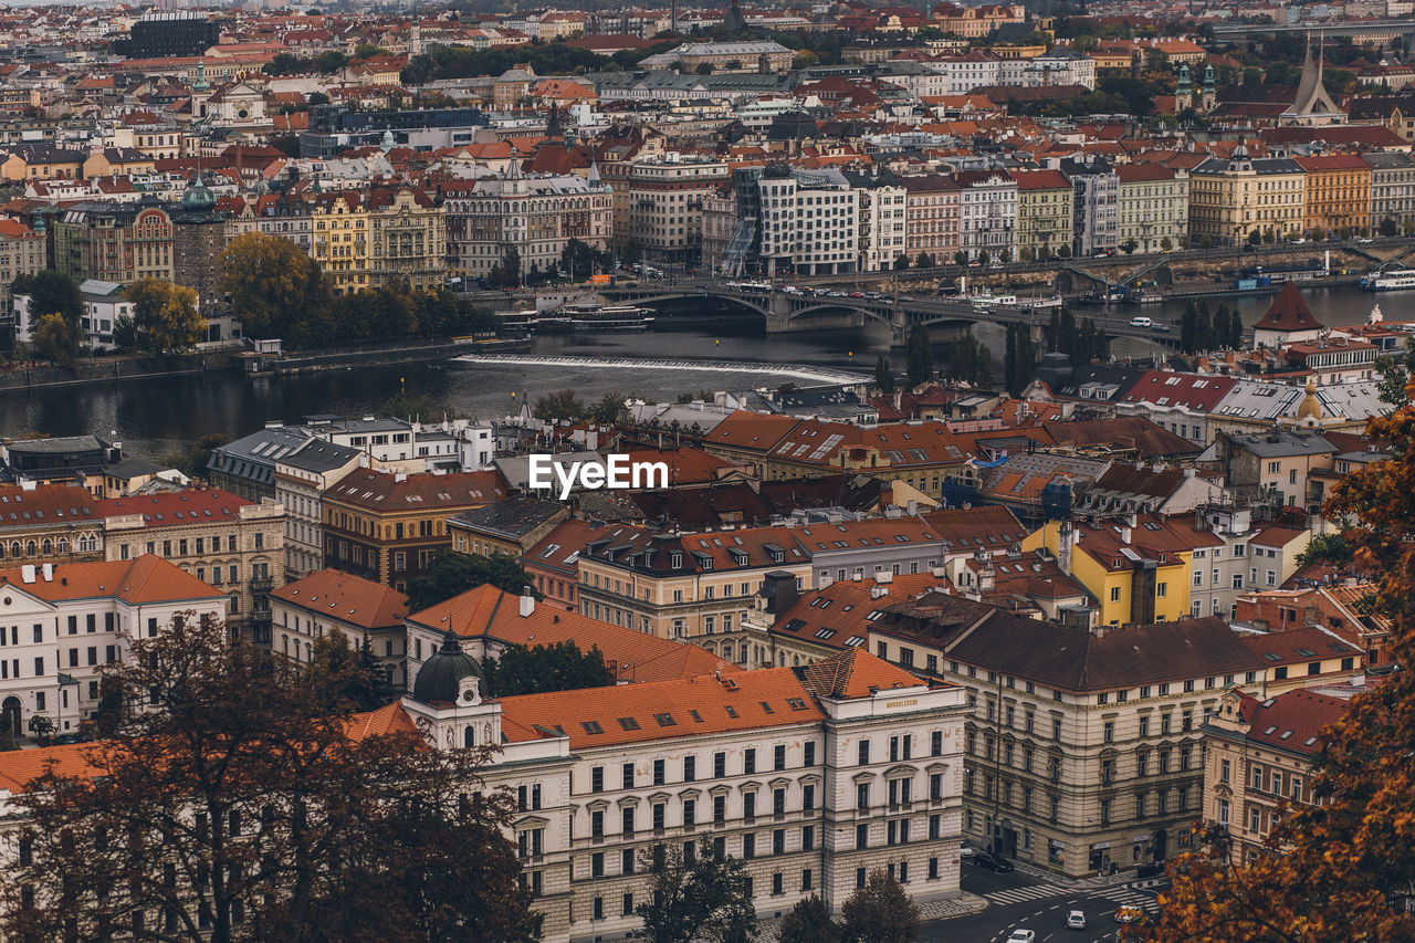
{"label": "large rounded yellowing tree on far riverbank, before the yellow buildings", "polygon": [[280,236],[236,236],[221,253],[221,290],[248,337],[283,337],[327,300],[320,266]]}

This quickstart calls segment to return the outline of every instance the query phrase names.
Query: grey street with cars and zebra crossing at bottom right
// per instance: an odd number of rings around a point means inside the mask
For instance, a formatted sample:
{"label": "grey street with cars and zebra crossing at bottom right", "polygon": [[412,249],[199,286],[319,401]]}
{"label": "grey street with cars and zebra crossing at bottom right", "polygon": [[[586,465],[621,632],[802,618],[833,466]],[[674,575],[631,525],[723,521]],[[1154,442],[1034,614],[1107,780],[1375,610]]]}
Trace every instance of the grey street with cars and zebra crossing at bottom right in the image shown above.
{"label": "grey street with cars and zebra crossing at bottom right", "polygon": [[[1129,903],[1155,912],[1166,881],[1152,879],[1075,891],[1023,874],[992,874],[964,867],[962,888],[989,899],[982,913],[925,923],[918,943],[1002,943],[1015,929],[1033,930],[1037,943],[1115,942],[1115,909]],[[1065,929],[1070,910],[1085,913],[1085,930]]]}

